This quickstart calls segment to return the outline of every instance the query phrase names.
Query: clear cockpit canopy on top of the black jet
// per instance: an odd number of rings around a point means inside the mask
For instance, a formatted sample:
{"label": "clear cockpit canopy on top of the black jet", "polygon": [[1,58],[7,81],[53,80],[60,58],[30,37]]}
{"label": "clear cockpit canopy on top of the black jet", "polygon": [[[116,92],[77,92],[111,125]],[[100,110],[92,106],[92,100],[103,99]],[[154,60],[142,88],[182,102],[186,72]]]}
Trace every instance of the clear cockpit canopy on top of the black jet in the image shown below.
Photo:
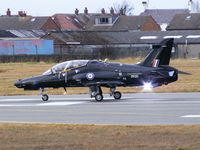
{"label": "clear cockpit canopy on top of the black jet", "polygon": [[46,72],[43,73],[43,75],[49,75],[49,74],[54,74],[54,73],[59,73],[68,69],[74,69],[74,68],[79,68],[82,66],[86,66],[88,63],[88,60],[71,60],[71,61],[65,61],[60,64],[57,64],[47,70]]}

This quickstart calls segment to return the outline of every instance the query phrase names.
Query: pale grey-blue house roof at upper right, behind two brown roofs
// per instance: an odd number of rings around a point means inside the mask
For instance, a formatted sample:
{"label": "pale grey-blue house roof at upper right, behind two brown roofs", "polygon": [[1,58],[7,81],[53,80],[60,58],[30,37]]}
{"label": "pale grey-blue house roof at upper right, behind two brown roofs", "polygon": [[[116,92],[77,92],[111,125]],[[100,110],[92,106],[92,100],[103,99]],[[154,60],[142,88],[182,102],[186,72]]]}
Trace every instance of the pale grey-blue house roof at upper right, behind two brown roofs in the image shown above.
{"label": "pale grey-blue house roof at upper right, behind two brown roofs", "polygon": [[170,23],[176,14],[189,14],[188,9],[146,9],[141,16],[152,16],[158,24]]}

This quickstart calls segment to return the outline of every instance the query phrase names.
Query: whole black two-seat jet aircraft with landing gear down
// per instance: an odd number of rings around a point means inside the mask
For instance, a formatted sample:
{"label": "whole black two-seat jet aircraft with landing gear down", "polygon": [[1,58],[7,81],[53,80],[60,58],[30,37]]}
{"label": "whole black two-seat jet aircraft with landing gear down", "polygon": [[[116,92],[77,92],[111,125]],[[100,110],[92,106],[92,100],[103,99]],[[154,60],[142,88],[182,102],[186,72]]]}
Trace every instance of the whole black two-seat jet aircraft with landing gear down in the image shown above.
{"label": "whole black two-seat jet aircraft with landing gear down", "polygon": [[165,39],[145,60],[138,64],[108,63],[98,60],[72,60],[57,64],[42,75],[18,80],[14,85],[24,90],[41,90],[42,100],[45,88],[89,87],[91,98],[103,100],[101,87],[110,88],[110,96],[121,98],[116,87],[167,85],[178,79],[178,70],[170,67],[173,39]]}

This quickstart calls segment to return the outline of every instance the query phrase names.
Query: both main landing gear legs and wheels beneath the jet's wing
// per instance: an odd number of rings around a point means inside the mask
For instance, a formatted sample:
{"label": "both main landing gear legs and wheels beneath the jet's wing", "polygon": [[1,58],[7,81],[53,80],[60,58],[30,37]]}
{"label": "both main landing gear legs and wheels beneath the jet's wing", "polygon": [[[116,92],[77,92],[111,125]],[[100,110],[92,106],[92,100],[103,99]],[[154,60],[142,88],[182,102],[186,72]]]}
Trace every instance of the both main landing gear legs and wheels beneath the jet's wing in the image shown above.
{"label": "both main landing gear legs and wheels beneath the jet's wing", "polygon": [[[110,88],[110,96],[113,96],[114,99],[121,99],[122,94],[119,91],[115,91],[116,88]],[[100,86],[90,87],[90,96],[95,98],[96,101],[100,102],[103,100],[103,92]]]}

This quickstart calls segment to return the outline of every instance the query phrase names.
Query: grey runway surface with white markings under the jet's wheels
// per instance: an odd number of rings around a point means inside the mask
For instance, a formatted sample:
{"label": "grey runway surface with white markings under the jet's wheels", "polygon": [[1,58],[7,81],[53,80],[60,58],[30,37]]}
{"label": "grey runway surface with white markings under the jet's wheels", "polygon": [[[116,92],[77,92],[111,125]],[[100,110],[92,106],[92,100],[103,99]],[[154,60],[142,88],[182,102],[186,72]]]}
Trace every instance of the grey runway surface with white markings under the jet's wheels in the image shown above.
{"label": "grey runway surface with white markings under the jet's wheels", "polygon": [[67,123],[120,125],[200,124],[200,93],[105,95],[103,102],[88,95],[0,96],[0,123]]}

